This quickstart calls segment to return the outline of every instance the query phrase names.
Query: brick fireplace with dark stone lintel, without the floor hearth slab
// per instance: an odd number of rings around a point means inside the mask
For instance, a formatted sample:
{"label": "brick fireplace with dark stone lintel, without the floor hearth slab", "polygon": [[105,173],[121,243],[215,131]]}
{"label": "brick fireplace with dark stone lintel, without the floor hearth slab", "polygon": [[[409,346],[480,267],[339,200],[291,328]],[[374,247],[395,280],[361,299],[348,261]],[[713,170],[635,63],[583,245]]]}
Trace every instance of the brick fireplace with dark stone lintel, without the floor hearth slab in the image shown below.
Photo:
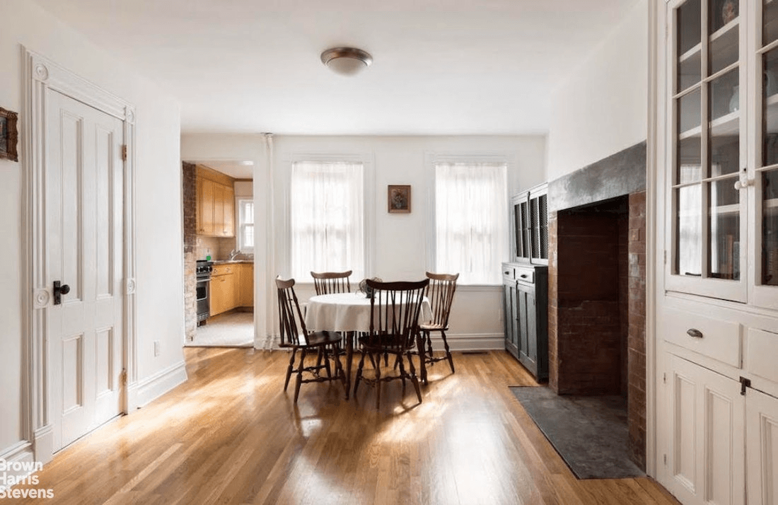
{"label": "brick fireplace with dark stone lintel, without the floor hearth slab", "polygon": [[548,185],[548,385],[626,398],[646,461],[645,143]]}

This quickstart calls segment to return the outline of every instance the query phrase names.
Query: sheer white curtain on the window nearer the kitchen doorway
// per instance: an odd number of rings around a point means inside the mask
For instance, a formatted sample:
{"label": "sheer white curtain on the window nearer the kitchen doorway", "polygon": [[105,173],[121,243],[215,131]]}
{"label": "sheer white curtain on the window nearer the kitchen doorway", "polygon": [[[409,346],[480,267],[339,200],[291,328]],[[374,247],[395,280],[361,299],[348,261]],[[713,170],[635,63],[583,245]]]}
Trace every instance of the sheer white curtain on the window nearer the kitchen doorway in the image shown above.
{"label": "sheer white curtain on the window nearer the kitchen doorway", "polygon": [[292,164],[290,266],[298,281],[311,271],[353,270],[352,279],[363,279],[363,172],[363,163]]}

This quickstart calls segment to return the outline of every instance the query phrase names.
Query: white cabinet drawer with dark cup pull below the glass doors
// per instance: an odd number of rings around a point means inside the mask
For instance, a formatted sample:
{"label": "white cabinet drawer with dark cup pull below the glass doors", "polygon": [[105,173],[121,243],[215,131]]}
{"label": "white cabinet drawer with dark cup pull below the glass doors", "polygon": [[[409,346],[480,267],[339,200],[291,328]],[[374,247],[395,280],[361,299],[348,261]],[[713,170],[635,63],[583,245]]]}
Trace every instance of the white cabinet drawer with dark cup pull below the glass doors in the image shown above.
{"label": "white cabinet drawer with dark cup pull below the glass doors", "polygon": [[740,323],[668,309],[661,328],[664,339],[672,344],[741,367]]}

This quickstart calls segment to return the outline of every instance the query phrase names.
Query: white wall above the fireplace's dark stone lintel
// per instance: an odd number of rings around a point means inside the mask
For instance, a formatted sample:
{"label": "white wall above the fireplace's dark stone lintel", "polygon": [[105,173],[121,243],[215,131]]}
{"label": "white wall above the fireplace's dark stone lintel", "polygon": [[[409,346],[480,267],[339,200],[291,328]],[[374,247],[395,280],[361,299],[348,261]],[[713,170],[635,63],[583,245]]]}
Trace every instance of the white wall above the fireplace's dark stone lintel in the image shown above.
{"label": "white wall above the fireplace's dark stone lintel", "polygon": [[648,1],[582,56],[552,95],[549,181],[646,140]]}

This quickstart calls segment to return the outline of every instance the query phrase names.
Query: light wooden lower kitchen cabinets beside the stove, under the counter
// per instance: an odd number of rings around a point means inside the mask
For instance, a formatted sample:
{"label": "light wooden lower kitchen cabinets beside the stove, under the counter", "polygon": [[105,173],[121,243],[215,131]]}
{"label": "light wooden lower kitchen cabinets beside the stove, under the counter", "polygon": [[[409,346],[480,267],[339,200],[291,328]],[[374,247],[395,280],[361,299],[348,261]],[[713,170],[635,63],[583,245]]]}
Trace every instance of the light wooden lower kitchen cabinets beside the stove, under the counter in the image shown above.
{"label": "light wooden lower kitchen cabinets beside the stove, under the counter", "polygon": [[254,306],[254,265],[215,265],[211,274],[211,316],[237,307]]}

